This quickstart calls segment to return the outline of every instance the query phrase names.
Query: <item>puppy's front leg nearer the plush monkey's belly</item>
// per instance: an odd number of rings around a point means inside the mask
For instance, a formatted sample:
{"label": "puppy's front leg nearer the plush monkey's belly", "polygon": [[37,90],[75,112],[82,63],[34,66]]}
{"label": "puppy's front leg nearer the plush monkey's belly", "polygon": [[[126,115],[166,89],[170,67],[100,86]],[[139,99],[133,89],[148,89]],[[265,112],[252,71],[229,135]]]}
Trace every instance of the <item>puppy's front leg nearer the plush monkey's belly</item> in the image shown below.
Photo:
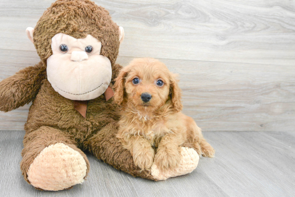
{"label": "puppy's front leg nearer the plush monkey's belly", "polygon": [[141,136],[131,136],[131,154],[133,161],[141,169],[149,170],[154,162],[155,151],[151,144]]}

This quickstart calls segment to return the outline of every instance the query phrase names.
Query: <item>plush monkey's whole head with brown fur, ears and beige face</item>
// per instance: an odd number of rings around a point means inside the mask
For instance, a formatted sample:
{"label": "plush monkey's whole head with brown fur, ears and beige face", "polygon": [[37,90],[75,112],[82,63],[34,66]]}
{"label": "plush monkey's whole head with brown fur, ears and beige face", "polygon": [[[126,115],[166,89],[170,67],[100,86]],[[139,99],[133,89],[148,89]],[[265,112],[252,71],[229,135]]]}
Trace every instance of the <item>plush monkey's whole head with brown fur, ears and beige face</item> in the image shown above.
{"label": "plush monkey's whole head with brown fur, ears and beige face", "polygon": [[124,39],[123,27],[111,20],[108,11],[88,0],[60,0],[26,34],[47,66],[47,79],[55,91],[71,100],[104,94]]}

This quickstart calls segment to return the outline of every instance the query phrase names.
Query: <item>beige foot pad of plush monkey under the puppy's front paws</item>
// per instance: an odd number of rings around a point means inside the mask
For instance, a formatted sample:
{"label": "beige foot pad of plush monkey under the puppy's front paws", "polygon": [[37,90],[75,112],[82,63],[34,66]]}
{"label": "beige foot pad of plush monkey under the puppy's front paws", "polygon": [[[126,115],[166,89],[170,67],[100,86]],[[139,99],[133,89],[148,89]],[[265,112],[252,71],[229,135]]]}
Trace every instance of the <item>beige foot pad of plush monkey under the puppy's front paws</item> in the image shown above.
{"label": "beige foot pad of plush monkey under the puppy's front paws", "polygon": [[166,172],[161,172],[157,165],[153,164],[151,167],[152,176],[157,180],[166,180],[170,177],[177,177],[180,175],[191,173],[194,169],[197,168],[200,157],[194,149],[181,147],[180,153],[182,155],[182,159],[180,161],[179,168]]}

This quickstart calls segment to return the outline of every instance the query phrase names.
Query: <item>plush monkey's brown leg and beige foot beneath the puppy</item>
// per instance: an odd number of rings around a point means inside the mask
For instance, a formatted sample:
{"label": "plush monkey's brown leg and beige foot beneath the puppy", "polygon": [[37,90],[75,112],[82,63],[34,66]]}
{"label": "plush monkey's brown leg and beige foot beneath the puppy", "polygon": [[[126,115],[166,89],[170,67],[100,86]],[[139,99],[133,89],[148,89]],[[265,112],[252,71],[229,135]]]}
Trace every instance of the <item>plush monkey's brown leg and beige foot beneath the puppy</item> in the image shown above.
{"label": "plush monkey's brown leg and beige foot beneath the puppy", "polygon": [[141,170],[134,162],[132,155],[124,149],[117,134],[117,122],[107,124],[93,137],[85,141],[85,148],[89,149],[98,159],[103,160],[118,170],[122,170],[134,177],[142,177],[151,180],[165,180],[193,171],[199,162],[199,155],[193,148],[181,147],[181,162],[178,169],[172,171],[161,171],[155,164],[150,171]]}

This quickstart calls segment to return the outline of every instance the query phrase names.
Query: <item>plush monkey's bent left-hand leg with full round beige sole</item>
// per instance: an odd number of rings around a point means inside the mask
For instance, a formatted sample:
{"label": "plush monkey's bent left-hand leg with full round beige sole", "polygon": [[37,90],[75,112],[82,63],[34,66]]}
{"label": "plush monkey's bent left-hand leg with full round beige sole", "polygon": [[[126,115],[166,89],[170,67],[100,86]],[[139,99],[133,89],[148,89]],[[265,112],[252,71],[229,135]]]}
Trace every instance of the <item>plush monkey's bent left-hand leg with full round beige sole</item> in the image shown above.
{"label": "plush monkey's bent left-hand leg with full round beige sole", "polygon": [[26,133],[20,168],[39,189],[57,191],[82,183],[89,172],[86,155],[61,130],[42,126]]}

